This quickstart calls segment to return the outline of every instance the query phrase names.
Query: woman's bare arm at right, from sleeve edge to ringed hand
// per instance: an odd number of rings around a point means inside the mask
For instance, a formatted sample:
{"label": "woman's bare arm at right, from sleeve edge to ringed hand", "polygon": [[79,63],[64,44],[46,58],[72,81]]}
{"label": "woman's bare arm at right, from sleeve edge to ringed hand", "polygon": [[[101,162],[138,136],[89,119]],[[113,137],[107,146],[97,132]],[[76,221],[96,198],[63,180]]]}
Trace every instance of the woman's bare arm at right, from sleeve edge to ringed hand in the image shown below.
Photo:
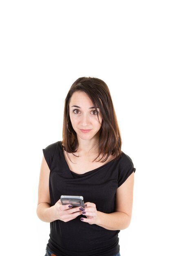
{"label": "woman's bare arm at right, from sleeve edge to ringed hand", "polygon": [[86,216],[95,216],[95,218],[87,217],[83,221],[109,230],[126,229],[130,225],[132,215],[133,184],[134,173],[117,189],[114,213],[102,213],[101,211],[95,213],[93,211],[95,206],[92,203],[86,203]]}

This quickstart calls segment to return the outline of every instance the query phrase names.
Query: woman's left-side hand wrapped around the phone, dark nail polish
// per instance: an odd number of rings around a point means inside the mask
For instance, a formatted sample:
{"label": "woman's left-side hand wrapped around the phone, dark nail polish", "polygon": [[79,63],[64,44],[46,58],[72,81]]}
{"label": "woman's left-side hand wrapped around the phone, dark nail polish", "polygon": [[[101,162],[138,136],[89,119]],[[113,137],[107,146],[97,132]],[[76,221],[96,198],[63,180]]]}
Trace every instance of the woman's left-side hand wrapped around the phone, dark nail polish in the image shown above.
{"label": "woman's left-side hand wrapped around the phone, dark nail polish", "polygon": [[55,205],[51,207],[51,217],[53,220],[62,220],[68,222],[82,215],[82,207],[72,207],[71,204],[62,205],[58,200]]}

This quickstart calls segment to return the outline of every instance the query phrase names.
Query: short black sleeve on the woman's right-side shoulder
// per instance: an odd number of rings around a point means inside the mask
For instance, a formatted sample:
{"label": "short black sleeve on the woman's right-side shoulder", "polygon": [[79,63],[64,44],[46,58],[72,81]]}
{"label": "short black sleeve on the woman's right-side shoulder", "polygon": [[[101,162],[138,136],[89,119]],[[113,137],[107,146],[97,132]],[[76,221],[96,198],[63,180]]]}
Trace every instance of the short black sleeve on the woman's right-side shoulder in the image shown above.
{"label": "short black sleeve on the woman's right-side shoulder", "polygon": [[123,153],[119,166],[118,187],[121,186],[133,172],[135,173],[135,171],[136,168],[133,166],[132,159]]}

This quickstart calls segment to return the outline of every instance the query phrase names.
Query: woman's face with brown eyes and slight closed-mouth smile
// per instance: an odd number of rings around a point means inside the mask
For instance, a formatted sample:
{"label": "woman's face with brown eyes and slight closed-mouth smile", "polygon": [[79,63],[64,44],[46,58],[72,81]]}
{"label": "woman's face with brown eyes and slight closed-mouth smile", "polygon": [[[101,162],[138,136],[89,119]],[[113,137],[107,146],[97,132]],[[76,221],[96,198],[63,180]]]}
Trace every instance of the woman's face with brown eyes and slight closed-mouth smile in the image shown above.
{"label": "woman's face with brown eyes and slight closed-mouth smile", "polygon": [[100,109],[99,120],[91,99],[85,92],[74,92],[69,103],[69,114],[77,139],[98,139],[99,129],[102,124]]}

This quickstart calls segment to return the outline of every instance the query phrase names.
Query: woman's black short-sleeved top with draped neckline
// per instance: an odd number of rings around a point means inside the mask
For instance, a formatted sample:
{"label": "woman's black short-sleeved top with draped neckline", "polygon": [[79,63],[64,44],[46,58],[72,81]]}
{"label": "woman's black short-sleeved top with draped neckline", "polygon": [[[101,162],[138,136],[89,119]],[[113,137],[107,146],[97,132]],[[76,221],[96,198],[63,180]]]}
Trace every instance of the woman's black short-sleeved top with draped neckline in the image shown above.
{"label": "woman's black short-sleeved top with draped neckline", "polygon": [[[84,174],[68,167],[61,141],[43,149],[50,169],[49,191],[51,206],[61,195],[82,195],[84,202],[93,202],[98,211],[115,211],[115,193],[121,184],[135,172],[132,160],[122,152],[121,157]],[[104,229],[80,220],[50,223],[47,247],[57,256],[113,256],[119,252],[119,230]],[[85,218],[85,216],[83,216]]]}

